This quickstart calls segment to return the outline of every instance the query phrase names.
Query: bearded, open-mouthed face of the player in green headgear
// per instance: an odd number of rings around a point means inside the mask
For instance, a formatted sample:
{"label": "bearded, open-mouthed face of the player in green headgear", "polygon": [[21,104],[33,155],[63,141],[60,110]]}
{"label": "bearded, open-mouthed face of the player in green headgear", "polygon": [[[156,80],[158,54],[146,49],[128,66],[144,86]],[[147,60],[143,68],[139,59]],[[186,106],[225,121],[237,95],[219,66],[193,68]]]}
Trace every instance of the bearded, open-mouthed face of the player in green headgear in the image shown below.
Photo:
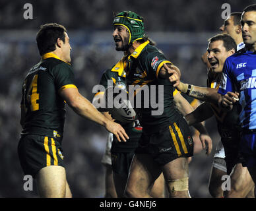
{"label": "bearded, open-mouthed face of the player in green headgear", "polygon": [[113,28],[113,40],[117,51],[126,51],[129,44],[129,32],[125,26],[115,25]]}

